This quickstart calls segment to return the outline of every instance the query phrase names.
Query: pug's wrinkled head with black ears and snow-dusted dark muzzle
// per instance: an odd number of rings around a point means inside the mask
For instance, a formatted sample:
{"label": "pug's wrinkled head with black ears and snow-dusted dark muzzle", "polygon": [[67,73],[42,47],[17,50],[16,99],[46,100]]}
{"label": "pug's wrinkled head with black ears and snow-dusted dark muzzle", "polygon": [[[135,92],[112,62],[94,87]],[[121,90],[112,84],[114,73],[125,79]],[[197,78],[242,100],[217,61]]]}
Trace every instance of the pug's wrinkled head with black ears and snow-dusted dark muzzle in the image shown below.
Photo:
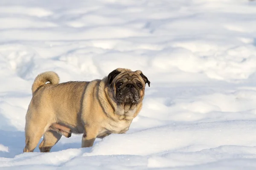
{"label": "pug's wrinkled head with black ears and snow-dusted dark muzzle", "polygon": [[108,85],[113,90],[113,97],[118,103],[134,105],[143,100],[145,84],[150,81],[140,71],[117,68],[108,75]]}

